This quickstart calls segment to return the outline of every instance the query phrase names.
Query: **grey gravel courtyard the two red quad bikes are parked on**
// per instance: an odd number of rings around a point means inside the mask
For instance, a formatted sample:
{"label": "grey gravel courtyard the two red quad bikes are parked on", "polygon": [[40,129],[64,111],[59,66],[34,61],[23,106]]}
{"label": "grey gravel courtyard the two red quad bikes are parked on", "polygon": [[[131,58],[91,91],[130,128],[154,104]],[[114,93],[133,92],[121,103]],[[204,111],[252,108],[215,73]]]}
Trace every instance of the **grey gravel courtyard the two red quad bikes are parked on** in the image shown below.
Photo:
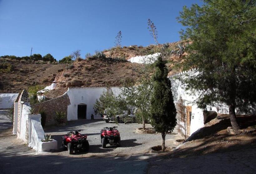
{"label": "grey gravel courtyard the two red quad bikes are parked on", "polygon": [[[162,144],[160,134],[136,134],[136,128],[142,127],[141,124],[131,123],[118,125],[118,130],[121,136],[121,147],[107,145],[106,149],[101,147],[100,131],[103,127],[117,126],[115,123],[106,123],[102,120],[76,120],[69,122],[63,127],[48,127],[45,133],[50,133],[52,137],[58,141],[57,151],[60,155],[68,155],[67,151],[62,150],[61,136],[69,131],[81,129],[82,134],[88,135],[87,140],[90,144],[89,153],[76,153],[82,157],[102,157],[102,156],[131,156],[139,153],[148,153],[150,147]],[[149,124],[146,127],[150,127]],[[178,144],[175,141],[180,139],[179,135],[166,135],[166,146],[176,147]],[[68,155],[69,156],[69,155]]]}

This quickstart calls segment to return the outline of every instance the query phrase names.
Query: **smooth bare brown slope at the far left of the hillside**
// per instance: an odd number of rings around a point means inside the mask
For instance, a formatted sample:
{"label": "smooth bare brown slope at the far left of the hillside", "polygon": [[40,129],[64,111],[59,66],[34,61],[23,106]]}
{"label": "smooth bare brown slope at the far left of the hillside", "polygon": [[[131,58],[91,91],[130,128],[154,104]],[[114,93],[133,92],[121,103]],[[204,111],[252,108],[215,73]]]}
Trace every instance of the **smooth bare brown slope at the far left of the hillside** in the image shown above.
{"label": "smooth bare brown slope at the far left of the hillside", "polygon": [[[0,59],[0,64],[3,62]],[[12,65],[12,71],[0,72],[0,93],[17,93],[28,89],[32,85],[46,87],[52,83],[58,71],[65,69],[64,64],[35,64],[33,62],[20,62],[7,60]]]}

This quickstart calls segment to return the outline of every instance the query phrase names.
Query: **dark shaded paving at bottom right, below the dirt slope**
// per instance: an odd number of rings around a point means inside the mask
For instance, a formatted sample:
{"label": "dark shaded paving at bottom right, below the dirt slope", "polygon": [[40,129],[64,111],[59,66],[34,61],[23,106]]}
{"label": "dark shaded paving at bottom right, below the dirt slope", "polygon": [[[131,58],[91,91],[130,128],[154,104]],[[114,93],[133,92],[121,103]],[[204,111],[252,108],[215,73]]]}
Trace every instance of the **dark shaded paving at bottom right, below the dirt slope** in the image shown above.
{"label": "dark shaded paving at bottom right, below the dirt slope", "polygon": [[256,149],[241,149],[190,158],[160,159],[149,164],[148,173],[256,173]]}

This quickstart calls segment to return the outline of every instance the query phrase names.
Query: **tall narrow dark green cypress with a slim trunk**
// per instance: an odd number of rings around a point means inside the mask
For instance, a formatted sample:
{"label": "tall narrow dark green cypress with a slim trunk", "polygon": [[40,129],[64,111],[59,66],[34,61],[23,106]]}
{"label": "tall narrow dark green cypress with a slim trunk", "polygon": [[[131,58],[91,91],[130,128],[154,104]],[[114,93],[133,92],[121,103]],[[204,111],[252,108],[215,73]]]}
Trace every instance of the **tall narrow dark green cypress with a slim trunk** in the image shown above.
{"label": "tall narrow dark green cypress with a slim trunk", "polygon": [[176,126],[176,108],[167,78],[168,70],[161,56],[155,61],[154,92],[151,98],[151,125],[162,135],[162,151],[165,151],[165,136]]}

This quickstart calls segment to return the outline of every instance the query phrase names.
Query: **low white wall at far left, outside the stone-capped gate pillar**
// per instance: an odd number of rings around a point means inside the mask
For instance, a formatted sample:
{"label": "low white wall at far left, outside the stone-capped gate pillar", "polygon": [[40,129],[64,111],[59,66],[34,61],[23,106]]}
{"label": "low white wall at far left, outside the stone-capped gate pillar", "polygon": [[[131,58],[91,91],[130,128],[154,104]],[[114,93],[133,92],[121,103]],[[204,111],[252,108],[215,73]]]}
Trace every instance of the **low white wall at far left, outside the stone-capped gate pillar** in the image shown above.
{"label": "low white wall at far left, outside the stone-capped gate pillar", "polygon": [[19,93],[0,94],[0,109],[11,108]]}

